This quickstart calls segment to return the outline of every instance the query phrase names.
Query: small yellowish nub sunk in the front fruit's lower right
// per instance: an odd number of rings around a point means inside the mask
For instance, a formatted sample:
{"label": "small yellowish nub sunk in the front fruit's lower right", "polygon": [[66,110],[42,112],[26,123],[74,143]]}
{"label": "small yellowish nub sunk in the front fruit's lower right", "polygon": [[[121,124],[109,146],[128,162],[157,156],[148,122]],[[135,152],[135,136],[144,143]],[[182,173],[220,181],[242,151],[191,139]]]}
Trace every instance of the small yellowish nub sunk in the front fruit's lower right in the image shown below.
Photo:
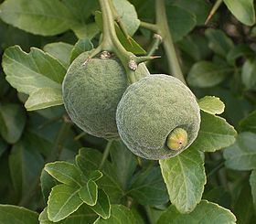
{"label": "small yellowish nub sunk in the front fruit's lower right", "polygon": [[183,128],[176,128],[169,133],[166,139],[169,149],[180,150],[187,145],[187,132]]}

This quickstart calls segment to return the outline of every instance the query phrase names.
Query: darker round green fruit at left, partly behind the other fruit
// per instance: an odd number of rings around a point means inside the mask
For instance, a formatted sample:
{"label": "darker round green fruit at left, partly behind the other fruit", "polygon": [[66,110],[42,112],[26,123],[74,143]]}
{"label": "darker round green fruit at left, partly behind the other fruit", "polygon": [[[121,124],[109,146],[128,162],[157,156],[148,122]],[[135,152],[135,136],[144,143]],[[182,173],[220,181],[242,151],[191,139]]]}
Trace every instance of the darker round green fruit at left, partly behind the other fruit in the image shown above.
{"label": "darker round green fruit at left, partly behind the other fruit", "polygon": [[[84,52],[70,65],[62,84],[63,101],[69,117],[80,129],[106,139],[118,137],[115,113],[128,80],[119,59],[96,57],[88,60]],[[144,64],[135,71],[136,77],[149,72]]]}

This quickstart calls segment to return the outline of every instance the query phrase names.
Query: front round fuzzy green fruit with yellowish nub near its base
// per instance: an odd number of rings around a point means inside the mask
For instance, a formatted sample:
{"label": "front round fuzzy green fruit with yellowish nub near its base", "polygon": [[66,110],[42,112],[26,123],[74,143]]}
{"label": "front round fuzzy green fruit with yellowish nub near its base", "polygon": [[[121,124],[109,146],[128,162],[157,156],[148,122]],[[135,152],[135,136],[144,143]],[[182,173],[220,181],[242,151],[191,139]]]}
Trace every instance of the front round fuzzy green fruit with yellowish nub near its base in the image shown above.
{"label": "front round fuzzy green fruit with yellowish nub near its base", "polygon": [[165,159],[181,153],[196,139],[200,110],[183,82],[150,75],[124,92],[116,122],[123,143],[135,155]]}

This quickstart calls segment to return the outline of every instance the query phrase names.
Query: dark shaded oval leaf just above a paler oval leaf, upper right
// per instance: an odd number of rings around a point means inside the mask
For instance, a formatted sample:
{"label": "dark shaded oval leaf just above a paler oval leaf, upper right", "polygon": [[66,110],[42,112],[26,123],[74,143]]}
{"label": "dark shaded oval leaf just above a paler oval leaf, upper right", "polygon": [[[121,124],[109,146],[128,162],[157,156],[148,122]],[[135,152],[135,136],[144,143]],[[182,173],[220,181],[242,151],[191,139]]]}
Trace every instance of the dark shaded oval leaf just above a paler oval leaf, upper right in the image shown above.
{"label": "dark shaded oval leaf just above a paler oval leaf, upper right", "polygon": [[226,59],[229,50],[234,48],[232,40],[219,29],[208,28],[205,35],[208,37],[208,47],[211,48],[213,52]]}

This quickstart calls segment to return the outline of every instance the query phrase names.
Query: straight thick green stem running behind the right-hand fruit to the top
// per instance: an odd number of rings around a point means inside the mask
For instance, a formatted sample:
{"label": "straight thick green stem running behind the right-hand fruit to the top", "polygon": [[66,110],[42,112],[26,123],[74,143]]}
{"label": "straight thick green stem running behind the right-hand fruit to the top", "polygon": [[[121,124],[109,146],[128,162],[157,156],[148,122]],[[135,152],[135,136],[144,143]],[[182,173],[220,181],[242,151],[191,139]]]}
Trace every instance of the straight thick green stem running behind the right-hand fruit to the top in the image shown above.
{"label": "straight thick green stem running behind the right-hand fruit to the top", "polygon": [[163,43],[165,48],[165,54],[168,60],[169,69],[177,79],[181,80],[186,84],[182,70],[180,68],[176,49],[173,43],[173,38],[167,22],[167,16],[165,12],[165,0],[155,0],[156,8],[156,26],[159,27],[160,36],[163,37]]}

